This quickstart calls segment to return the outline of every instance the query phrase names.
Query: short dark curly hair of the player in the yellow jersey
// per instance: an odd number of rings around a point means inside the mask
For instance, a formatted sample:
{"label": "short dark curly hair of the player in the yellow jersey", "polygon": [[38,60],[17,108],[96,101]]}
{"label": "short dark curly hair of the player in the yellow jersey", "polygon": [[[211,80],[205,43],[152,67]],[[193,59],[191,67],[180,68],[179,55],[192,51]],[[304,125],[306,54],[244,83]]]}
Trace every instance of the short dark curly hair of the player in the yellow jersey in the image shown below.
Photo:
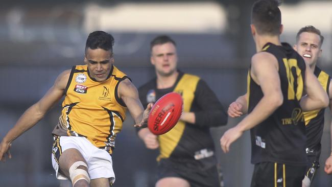
{"label": "short dark curly hair of the player in the yellow jersey", "polygon": [[114,38],[111,34],[108,34],[104,31],[94,31],[89,34],[86,39],[85,50],[88,48],[103,49],[105,51],[111,50],[113,52]]}

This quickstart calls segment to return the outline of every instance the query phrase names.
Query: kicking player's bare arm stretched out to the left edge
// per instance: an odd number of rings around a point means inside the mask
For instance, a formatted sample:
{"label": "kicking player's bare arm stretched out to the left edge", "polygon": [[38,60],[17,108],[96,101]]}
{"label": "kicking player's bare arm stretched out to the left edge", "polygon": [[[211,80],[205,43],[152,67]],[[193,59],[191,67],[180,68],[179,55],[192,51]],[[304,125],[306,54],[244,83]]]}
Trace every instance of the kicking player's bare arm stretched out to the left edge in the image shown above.
{"label": "kicking player's bare arm stretched out to the left edge", "polygon": [[69,74],[70,70],[64,71],[60,74],[48,92],[46,92],[37,103],[32,105],[21,115],[14,127],[9,130],[0,143],[0,160],[5,159],[4,154],[7,154],[8,157],[11,158],[9,152],[11,143],[22,133],[36,125],[39,120],[43,118],[45,113],[62,98],[69,79]]}

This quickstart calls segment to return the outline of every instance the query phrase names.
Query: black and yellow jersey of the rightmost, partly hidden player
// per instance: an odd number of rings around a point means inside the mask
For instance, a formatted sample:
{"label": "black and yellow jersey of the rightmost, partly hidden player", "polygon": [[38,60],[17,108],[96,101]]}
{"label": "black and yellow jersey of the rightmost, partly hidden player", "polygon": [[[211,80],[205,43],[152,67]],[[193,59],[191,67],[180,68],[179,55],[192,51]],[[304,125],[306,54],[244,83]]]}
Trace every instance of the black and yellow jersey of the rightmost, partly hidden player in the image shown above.
{"label": "black and yellow jersey of the rightmost, partly hidden player", "polygon": [[[314,74],[328,94],[331,77],[317,66],[315,67]],[[321,152],[320,142],[324,128],[324,110],[325,108],[303,112],[307,138],[306,152],[308,155],[317,156],[317,158],[319,158]]]}

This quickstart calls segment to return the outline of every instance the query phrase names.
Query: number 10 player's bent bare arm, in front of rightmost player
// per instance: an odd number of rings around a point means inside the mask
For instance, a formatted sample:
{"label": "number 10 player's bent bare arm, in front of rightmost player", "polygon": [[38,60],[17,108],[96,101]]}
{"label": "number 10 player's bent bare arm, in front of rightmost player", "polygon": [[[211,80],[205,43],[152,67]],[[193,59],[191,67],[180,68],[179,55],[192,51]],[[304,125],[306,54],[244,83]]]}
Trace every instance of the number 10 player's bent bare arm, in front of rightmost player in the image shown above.
{"label": "number 10 player's bent bare arm, in front of rightmost player", "polygon": [[326,91],[318,82],[309,65],[305,64],[304,91],[306,95],[302,97],[300,105],[303,111],[316,110],[328,106],[329,99]]}

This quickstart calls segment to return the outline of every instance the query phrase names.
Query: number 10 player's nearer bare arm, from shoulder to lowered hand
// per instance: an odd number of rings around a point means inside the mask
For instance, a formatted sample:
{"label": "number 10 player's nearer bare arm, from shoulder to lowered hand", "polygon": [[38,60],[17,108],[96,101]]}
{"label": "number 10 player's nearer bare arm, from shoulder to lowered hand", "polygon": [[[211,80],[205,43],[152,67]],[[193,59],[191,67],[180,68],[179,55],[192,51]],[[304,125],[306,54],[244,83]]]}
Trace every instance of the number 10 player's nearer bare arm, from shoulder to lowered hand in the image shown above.
{"label": "number 10 player's nearer bare arm, from shoulder to lowered hand", "polygon": [[283,102],[277,59],[269,53],[255,54],[251,59],[251,77],[260,85],[263,98],[250,114],[238,125],[227,130],[220,139],[222,150],[227,153],[231,143],[236,141],[244,131],[251,129],[268,118]]}

